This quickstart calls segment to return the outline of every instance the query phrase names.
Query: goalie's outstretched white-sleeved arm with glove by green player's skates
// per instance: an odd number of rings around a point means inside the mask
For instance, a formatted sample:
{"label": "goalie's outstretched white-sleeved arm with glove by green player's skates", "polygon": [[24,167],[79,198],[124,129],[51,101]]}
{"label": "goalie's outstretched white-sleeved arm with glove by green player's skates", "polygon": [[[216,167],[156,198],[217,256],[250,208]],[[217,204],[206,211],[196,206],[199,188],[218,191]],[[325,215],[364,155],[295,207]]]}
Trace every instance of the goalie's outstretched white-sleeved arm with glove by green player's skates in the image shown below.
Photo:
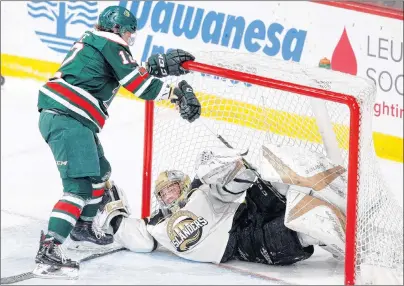
{"label": "goalie's outstretched white-sleeved arm with glove by green player's skates", "polygon": [[112,234],[116,242],[134,252],[151,252],[157,248],[157,241],[147,230],[147,221],[129,217],[130,208],[122,189],[112,183],[102,204],[93,221],[95,229]]}

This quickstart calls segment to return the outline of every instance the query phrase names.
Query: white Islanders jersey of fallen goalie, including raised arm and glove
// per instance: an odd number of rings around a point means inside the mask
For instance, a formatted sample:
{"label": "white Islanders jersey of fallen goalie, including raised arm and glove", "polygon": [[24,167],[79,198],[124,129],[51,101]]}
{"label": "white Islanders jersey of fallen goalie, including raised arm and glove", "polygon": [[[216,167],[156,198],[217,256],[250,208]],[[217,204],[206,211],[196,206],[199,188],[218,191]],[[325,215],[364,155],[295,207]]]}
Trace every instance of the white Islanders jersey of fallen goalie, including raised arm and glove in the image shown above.
{"label": "white Islanders jersey of fallen goalie, including raised arm and glove", "polygon": [[[188,260],[219,263],[234,214],[255,176],[234,151],[205,153],[201,161],[197,175],[203,185],[188,194],[184,207],[168,217],[159,212],[145,220],[125,219],[115,240],[135,252],[149,252],[160,245]],[[234,185],[236,176],[247,183]]]}

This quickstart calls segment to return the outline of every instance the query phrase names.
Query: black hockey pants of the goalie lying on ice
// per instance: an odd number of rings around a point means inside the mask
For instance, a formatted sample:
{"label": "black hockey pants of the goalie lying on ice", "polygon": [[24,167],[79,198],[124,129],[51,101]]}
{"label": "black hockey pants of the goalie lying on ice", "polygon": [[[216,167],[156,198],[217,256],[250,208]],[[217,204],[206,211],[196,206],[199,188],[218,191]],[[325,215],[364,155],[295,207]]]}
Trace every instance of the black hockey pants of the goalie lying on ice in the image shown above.
{"label": "black hockey pants of the goalie lying on ice", "polygon": [[253,185],[234,217],[222,262],[231,259],[289,265],[309,258],[313,246],[302,247],[297,233],[284,225],[285,204],[265,185]]}

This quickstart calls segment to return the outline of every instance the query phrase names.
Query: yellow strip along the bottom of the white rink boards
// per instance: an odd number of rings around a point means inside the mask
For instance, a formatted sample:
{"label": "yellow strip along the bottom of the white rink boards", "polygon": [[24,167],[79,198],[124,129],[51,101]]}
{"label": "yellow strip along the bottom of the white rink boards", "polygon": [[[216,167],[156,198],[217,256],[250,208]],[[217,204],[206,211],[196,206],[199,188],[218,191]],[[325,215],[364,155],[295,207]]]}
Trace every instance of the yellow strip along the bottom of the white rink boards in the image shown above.
{"label": "yellow strip along the bottom of the white rink boards", "polygon": [[[46,81],[53,76],[58,67],[59,63],[1,54],[1,74],[3,76]],[[119,90],[118,96],[140,100],[123,88]],[[322,141],[315,119],[311,117],[263,108],[201,92],[197,93],[197,96],[202,104],[202,116],[313,143]],[[157,105],[173,108],[173,105],[167,101],[160,101]],[[211,110],[209,107],[213,105],[215,109]],[[300,129],[296,128],[297,126]],[[334,124],[333,129],[337,134],[339,147],[347,149],[348,127]],[[403,138],[373,132],[373,140],[377,156],[403,162]]]}

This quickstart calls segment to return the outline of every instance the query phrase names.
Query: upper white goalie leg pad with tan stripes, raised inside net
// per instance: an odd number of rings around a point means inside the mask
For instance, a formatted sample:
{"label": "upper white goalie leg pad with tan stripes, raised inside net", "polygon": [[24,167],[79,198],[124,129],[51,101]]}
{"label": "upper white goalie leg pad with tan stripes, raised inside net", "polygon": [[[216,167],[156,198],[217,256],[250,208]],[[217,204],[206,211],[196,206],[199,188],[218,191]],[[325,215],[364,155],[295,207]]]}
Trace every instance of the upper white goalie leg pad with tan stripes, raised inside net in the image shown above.
{"label": "upper white goalie leg pad with tan stripes, raised inside net", "polygon": [[262,178],[284,194],[286,185],[309,189],[310,194],[346,213],[347,174],[323,154],[291,146],[262,146]]}

